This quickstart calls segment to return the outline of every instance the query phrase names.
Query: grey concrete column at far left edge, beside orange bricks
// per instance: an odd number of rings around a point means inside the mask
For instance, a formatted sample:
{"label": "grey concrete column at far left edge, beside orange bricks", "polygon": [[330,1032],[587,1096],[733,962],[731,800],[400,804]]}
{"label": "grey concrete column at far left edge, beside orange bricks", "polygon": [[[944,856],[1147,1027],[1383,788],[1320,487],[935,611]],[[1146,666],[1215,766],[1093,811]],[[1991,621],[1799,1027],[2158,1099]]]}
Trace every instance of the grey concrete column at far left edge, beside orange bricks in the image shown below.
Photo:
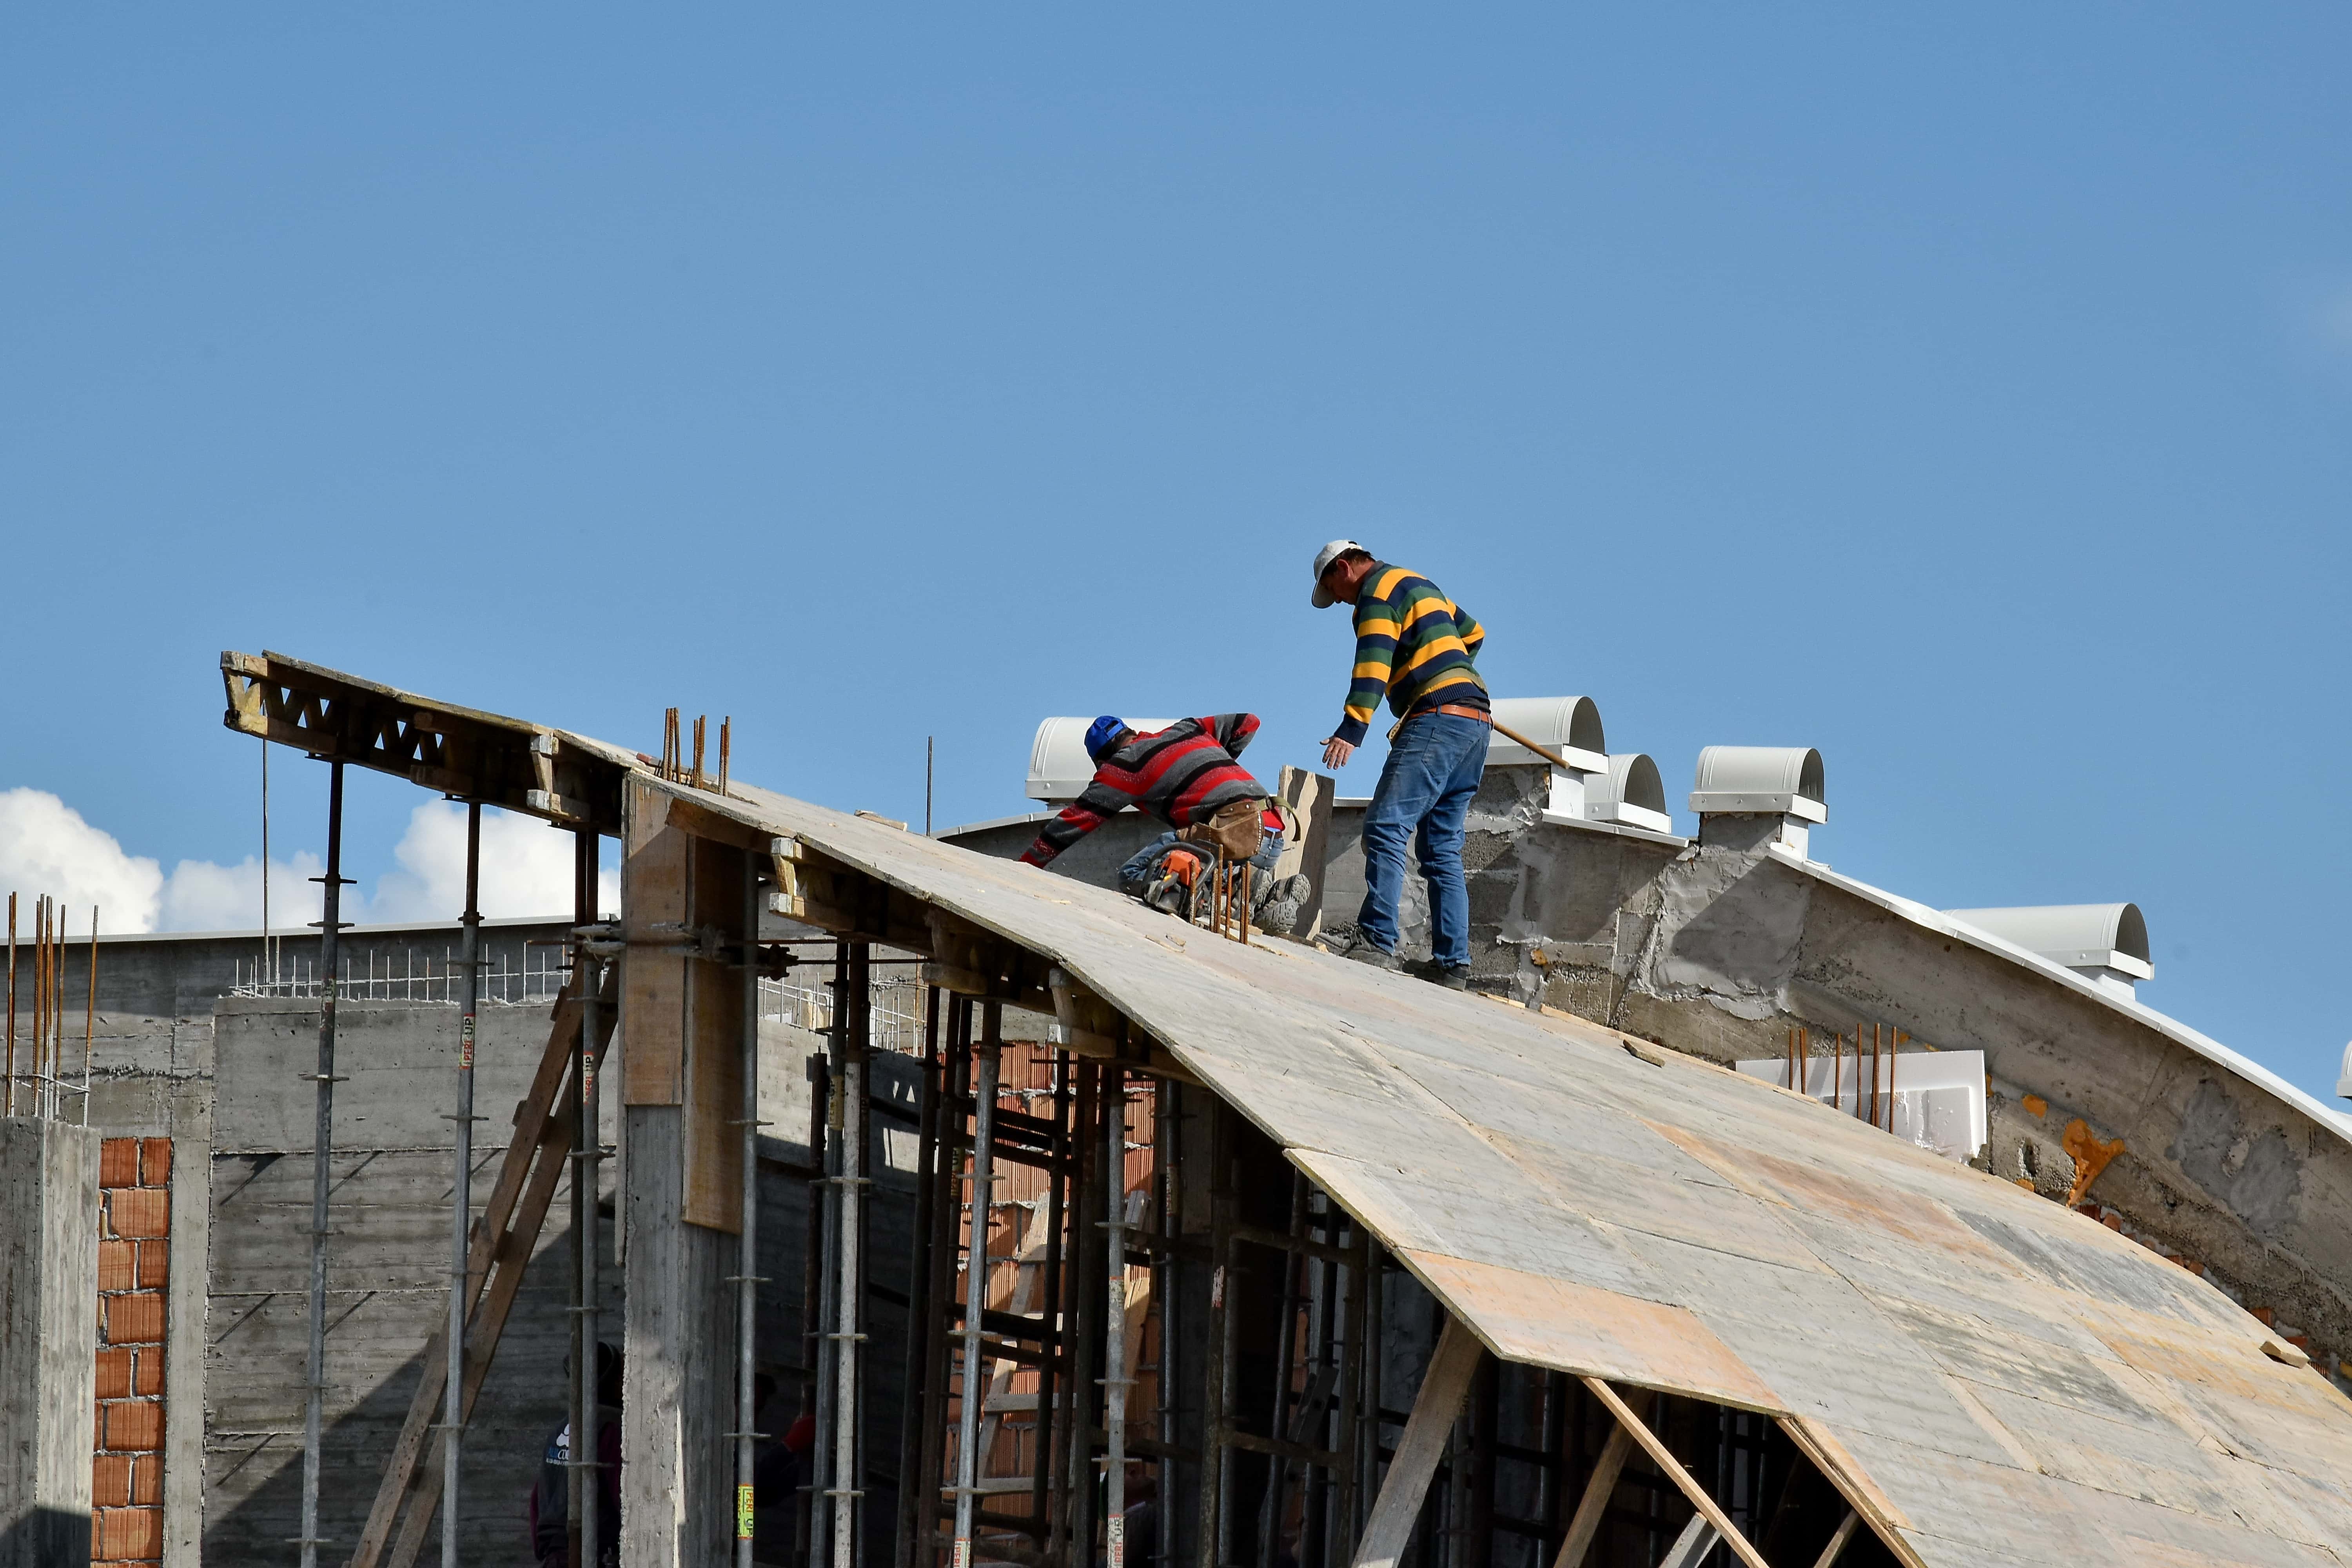
{"label": "grey concrete column at far left edge, beside orange bricks", "polygon": [[0,1117],[0,1566],[89,1561],[99,1138]]}

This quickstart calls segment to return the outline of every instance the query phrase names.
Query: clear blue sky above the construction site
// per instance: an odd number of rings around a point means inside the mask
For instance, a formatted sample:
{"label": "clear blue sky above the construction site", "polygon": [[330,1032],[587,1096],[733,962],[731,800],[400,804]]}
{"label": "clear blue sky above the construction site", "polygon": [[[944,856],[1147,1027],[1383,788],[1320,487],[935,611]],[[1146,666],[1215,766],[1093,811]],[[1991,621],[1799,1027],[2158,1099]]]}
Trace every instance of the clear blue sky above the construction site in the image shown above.
{"label": "clear blue sky above the construction site", "polygon": [[[223,646],[727,712],[894,816],[938,736],[941,823],[1021,809],[1049,712],[1305,762],[1355,534],[1677,802],[1818,745],[1839,870],[2136,898],[2147,1001],[2333,1091],[2340,9],[0,31],[0,790],[129,856],[256,849]],[[355,780],[362,877],[416,804]]]}

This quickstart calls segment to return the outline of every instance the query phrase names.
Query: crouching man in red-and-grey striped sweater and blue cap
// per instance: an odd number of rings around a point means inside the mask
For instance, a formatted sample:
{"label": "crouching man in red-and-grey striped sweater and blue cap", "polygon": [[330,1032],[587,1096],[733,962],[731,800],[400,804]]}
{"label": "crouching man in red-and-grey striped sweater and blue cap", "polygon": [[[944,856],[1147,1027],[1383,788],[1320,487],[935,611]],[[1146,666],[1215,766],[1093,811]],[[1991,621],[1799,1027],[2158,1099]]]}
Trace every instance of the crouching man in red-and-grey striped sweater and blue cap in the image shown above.
{"label": "crouching man in red-and-grey striped sweater and blue cap", "polygon": [[1272,891],[1265,882],[1282,853],[1282,816],[1270,809],[1265,785],[1235,762],[1256,733],[1254,712],[1176,719],[1150,736],[1138,736],[1117,715],[1105,712],[1087,726],[1094,780],[1044,825],[1021,858],[1028,865],[1049,865],[1105,820],[1136,806],[1167,823],[1169,832],[1120,867],[1122,893],[1141,896],[1169,851],[1200,844],[1249,860],[1263,900]]}

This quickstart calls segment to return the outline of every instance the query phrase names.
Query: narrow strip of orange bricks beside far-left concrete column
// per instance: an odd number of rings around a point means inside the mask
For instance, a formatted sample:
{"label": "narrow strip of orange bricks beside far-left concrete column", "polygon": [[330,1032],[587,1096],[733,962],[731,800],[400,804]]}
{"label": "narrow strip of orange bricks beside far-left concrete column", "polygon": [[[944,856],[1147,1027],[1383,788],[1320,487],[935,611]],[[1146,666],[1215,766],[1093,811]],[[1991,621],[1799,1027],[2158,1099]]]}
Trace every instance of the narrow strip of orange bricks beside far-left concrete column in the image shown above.
{"label": "narrow strip of orange bricks beside far-left concrete column", "polygon": [[89,1561],[162,1561],[162,1328],[172,1269],[172,1140],[99,1154],[99,1448]]}

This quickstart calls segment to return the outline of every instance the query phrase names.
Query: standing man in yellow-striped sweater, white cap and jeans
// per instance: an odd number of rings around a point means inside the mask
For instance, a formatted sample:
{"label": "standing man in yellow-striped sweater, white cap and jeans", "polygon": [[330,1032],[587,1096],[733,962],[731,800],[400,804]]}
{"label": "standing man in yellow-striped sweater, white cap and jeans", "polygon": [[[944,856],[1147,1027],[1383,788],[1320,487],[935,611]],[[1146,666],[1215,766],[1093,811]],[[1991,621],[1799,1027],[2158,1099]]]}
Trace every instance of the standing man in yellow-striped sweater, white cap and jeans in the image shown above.
{"label": "standing man in yellow-striped sweater, white cap and jeans", "polygon": [[1402,969],[1397,903],[1404,898],[1404,851],[1414,849],[1430,884],[1432,980],[1470,987],[1470,891],[1463,879],[1463,823],[1486,771],[1494,712],[1477,651],[1486,630],[1437,583],[1374,559],[1352,538],[1315,552],[1315,609],[1355,604],[1355,670],[1338,729],[1324,741],[1324,766],[1343,769],[1364,743],[1371,715],[1388,698],[1397,726],[1388,762],[1364,811],[1364,907],[1355,917],[1350,959]]}

